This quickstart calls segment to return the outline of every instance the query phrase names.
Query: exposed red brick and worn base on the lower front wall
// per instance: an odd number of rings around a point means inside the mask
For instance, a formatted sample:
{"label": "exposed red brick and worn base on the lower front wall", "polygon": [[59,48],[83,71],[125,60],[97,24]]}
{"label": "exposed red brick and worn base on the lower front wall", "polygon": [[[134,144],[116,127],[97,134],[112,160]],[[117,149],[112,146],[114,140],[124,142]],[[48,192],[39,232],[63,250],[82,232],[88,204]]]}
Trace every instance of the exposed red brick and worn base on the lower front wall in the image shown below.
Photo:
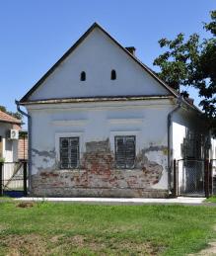
{"label": "exposed red brick and worn base on the lower front wall", "polygon": [[[159,150],[159,149],[158,149]],[[32,194],[63,197],[155,197],[168,196],[167,190],[152,186],[162,177],[163,167],[149,161],[142,151],[135,168],[115,168],[109,141],[86,143],[78,170],[40,170],[32,176]]]}

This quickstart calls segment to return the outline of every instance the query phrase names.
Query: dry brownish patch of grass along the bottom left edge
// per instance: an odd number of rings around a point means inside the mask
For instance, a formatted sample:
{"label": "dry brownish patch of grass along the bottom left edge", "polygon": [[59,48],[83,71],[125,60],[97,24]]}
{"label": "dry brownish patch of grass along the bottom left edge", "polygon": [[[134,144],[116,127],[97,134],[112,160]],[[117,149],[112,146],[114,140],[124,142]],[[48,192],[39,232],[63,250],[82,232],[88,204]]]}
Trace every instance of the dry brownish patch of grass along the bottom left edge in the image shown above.
{"label": "dry brownish patch of grass along the bottom left edge", "polygon": [[7,235],[0,240],[7,256],[40,255],[161,255],[162,250],[150,242],[136,242],[101,237],[58,234],[43,237],[36,234]]}

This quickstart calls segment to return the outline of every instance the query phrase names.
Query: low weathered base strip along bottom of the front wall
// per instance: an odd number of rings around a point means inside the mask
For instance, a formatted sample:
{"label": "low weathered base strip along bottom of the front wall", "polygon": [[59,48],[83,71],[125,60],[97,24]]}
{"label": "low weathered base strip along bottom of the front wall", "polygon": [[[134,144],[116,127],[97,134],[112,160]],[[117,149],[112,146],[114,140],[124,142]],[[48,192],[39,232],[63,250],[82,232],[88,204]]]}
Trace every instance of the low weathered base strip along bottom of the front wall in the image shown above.
{"label": "low weathered base strip along bottom of the front wall", "polygon": [[37,188],[32,197],[168,198],[166,190],[120,188]]}

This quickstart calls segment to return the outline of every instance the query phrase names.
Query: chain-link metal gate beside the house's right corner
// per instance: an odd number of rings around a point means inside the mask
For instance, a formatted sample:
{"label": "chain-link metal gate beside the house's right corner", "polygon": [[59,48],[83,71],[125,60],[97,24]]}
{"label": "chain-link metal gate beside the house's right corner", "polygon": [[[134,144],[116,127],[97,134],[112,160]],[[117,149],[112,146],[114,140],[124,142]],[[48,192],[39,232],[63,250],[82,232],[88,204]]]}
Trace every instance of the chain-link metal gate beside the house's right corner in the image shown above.
{"label": "chain-link metal gate beside the house's right corner", "polygon": [[180,159],[178,168],[178,195],[205,197],[205,161]]}

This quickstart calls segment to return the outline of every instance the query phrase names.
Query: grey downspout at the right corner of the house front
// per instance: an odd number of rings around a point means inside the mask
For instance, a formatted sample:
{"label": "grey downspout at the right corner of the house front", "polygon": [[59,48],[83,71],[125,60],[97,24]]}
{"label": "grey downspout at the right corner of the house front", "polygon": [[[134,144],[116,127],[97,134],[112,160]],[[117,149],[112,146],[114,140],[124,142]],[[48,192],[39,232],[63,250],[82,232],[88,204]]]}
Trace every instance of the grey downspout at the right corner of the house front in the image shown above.
{"label": "grey downspout at the right corner of the house front", "polygon": [[171,126],[172,126],[172,117],[173,117],[174,113],[176,113],[177,111],[180,110],[181,102],[182,102],[182,97],[180,96],[178,98],[178,101],[177,101],[178,106],[168,114],[168,191],[169,191],[169,195],[172,194],[172,192],[171,192],[171,171],[172,171],[172,164],[171,164],[171,152],[172,152],[172,148],[171,148]]}

